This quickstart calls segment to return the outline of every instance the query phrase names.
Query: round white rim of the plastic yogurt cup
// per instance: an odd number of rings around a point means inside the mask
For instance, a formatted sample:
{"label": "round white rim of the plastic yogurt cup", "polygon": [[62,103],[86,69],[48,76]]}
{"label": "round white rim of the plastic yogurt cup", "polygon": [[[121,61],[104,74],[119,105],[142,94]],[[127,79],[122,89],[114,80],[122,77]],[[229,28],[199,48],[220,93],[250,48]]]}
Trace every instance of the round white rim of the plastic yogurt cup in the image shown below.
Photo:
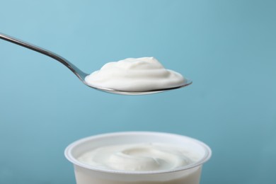
{"label": "round white rim of the plastic yogurt cup", "polygon": [[[197,144],[200,144],[203,149],[205,149],[205,155],[202,156],[202,159],[199,161],[189,164],[187,166],[182,166],[179,168],[173,168],[169,170],[161,170],[161,171],[117,171],[117,170],[111,170],[111,169],[105,169],[105,168],[98,168],[96,166],[90,166],[86,163],[82,163],[81,161],[78,161],[72,154],[71,151],[74,149],[75,146],[87,142],[90,139],[98,139],[101,137],[108,137],[108,136],[114,136],[114,135],[127,135],[127,134],[156,134],[156,135],[167,135],[167,136],[175,136],[175,137],[182,137],[185,139],[190,139],[192,142],[196,142]],[[130,132],[110,132],[110,133],[104,133],[104,134],[96,134],[89,137],[84,137],[82,139],[78,139],[75,142],[72,142],[67,146],[67,148],[64,150],[64,156],[67,158],[68,161],[73,163],[75,166],[80,166],[82,168],[87,168],[92,171],[98,171],[102,173],[116,173],[116,174],[132,174],[132,175],[149,175],[149,174],[161,174],[161,173],[174,173],[178,171],[185,171],[190,168],[195,168],[197,166],[201,166],[203,163],[207,162],[211,156],[212,156],[212,150],[209,148],[207,144],[204,142],[201,142],[198,139],[194,139],[192,137],[188,137],[181,134],[173,134],[168,132],[148,132],[148,131],[130,131]]]}

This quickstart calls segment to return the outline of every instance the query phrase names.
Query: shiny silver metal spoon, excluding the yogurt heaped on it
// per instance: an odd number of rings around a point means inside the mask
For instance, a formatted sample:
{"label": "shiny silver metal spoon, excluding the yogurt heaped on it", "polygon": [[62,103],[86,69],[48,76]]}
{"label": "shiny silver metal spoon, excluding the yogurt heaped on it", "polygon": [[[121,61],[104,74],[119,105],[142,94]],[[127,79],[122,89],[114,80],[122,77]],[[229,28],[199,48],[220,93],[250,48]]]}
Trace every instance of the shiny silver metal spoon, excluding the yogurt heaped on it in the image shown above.
{"label": "shiny silver metal spoon, excluding the yogurt heaped on it", "polygon": [[26,47],[30,50],[34,50],[36,52],[40,52],[41,54],[45,54],[48,57],[52,57],[52,59],[56,59],[58,62],[61,62],[64,64],[65,67],[69,68],[86,86],[89,86],[91,88],[95,88],[100,91],[108,92],[108,93],[115,93],[115,94],[120,94],[120,95],[146,95],[146,94],[151,94],[151,93],[160,93],[163,91],[168,91],[176,88],[183,88],[185,86],[188,86],[192,84],[192,81],[189,79],[186,79],[183,84],[180,84],[179,86],[175,86],[173,88],[160,88],[160,89],[154,89],[154,90],[149,90],[149,91],[120,91],[117,89],[113,88],[99,88],[98,86],[91,86],[86,83],[84,80],[88,74],[84,73],[84,71],[81,71],[79,68],[74,66],[74,64],[71,64],[67,59],[64,57],[59,56],[59,54],[55,54],[54,52],[51,52],[49,50],[45,50],[41,47],[35,46],[33,44],[30,44],[28,42],[24,42],[22,40],[19,40],[17,38],[13,38],[9,35],[5,35],[3,33],[0,33],[0,38],[2,40],[6,40],[8,42],[12,42],[17,45],[21,45],[22,47]]}

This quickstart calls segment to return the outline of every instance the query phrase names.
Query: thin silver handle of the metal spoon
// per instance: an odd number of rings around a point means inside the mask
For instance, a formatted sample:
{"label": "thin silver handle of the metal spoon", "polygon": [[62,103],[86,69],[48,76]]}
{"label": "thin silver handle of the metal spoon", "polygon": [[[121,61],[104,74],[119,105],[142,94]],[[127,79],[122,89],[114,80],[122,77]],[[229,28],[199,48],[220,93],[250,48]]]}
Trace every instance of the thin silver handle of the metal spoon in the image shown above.
{"label": "thin silver handle of the metal spoon", "polygon": [[69,68],[71,71],[73,71],[73,73],[81,80],[84,82],[84,78],[85,76],[87,76],[86,73],[84,73],[84,71],[81,71],[79,68],[77,68],[76,66],[74,66],[74,64],[71,64],[71,62],[69,62],[67,59],[65,59],[64,57],[59,56],[59,54],[55,54],[54,52],[51,52],[49,50],[45,50],[41,47],[38,47],[36,45],[30,44],[28,42],[24,42],[22,40],[19,40],[17,38],[13,38],[9,35],[5,35],[3,33],[0,33],[0,38],[2,40],[6,40],[8,42],[13,42],[16,45],[20,45],[22,47],[26,47],[30,50],[34,50],[36,52],[40,52],[41,54],[45,54],[48,57],[52,57],[53,59],[56,59],[58,62],[61,62],[62,64],[64,64],[65,67]]}

